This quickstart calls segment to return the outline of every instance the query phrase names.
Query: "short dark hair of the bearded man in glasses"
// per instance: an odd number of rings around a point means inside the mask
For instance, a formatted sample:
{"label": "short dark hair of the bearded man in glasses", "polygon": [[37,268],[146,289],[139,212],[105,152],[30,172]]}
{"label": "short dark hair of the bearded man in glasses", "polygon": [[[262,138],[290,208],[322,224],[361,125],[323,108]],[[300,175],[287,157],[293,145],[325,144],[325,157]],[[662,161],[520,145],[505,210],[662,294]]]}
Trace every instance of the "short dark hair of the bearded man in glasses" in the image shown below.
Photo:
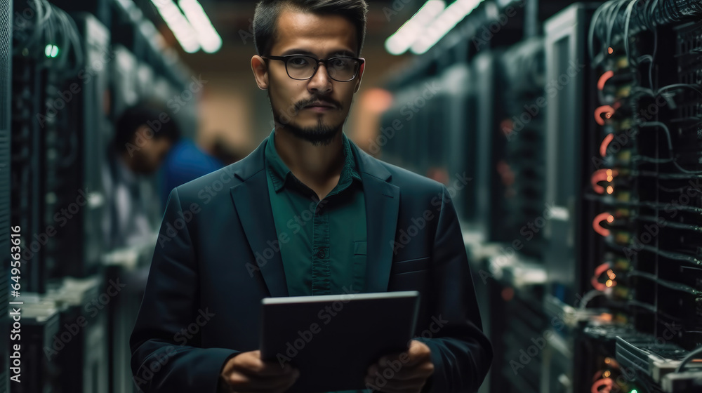
{"label": "short dark hair of the bearded man in glasses", "polygon": [[286,7],[318,15],[341,15],[356,27],[358,55],[366,37],[365,0],[261,0],[253,13],[253,43],[258,55],[270,55],[280,11]]}

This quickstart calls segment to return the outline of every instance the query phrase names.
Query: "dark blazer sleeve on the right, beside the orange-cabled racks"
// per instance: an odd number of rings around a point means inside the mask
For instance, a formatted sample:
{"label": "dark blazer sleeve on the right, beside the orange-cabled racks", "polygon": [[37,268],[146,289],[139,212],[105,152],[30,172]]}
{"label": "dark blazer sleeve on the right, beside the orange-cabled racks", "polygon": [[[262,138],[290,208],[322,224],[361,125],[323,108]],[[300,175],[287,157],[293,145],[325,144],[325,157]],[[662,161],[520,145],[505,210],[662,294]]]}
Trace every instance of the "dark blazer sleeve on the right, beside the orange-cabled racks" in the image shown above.
{"label": "dark blazer sleeve on the right, beside the orange-cabled racks", "polygon": [[440,327],[431,338],[417,338],[431,350],[435,366],[423,392],[476,392],[490,368],[492,346],[482,332],[456,208],[444,185],[442,192],[431,293]]}

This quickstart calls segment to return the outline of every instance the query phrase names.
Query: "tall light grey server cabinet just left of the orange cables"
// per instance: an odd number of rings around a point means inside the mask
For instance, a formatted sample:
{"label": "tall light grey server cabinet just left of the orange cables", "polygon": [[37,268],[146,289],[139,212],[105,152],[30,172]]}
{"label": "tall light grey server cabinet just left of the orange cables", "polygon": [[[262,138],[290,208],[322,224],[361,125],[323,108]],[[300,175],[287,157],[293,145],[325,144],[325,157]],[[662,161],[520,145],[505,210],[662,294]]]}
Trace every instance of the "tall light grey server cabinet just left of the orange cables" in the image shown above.
{"label": "tall light grey server cabinet just left of the orange cables", "polygon": [[587,246],[589,232],[583,230],[587,213],[583,192],[585,162],[594,120],[594,107],[587,34],[596,5],[574,4],[547,20],[545,61],[548,112],[546,117],[545,201],[553,204],[544,227],[547,242],[545,265],[550,293],[573,305],[576,293],[585,293],[589,277]]}

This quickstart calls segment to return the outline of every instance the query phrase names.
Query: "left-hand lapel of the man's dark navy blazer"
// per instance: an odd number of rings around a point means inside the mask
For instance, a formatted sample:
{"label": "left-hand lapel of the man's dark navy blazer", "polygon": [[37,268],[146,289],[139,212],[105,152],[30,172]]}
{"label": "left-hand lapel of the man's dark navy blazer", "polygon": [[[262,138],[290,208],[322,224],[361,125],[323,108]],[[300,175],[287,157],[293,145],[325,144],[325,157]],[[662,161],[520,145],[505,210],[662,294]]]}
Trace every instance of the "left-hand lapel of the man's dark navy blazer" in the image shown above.
{"label": "left-hand lapel of the man's dark navy blazer", "polygon": [[[274,298],[288,295],[288,285],[280,256],[273,213],[270,208],[268,184],[263,162],[263,140],[256,150],[241,162],[234,175],[242,180],[230,189],[232,201],[244,227],[256,267],[263,275],[268,292]],[[247,267],[247,271],[250,269]]]}

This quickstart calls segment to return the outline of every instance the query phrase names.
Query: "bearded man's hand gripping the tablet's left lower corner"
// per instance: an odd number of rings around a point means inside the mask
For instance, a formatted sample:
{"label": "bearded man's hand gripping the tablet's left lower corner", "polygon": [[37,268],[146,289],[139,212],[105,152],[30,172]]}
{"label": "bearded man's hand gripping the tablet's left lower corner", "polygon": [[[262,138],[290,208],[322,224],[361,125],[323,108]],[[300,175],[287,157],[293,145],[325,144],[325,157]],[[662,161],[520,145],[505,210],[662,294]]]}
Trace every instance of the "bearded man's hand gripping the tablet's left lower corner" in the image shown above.
{"label": "bearded man's hand gripping the tablet's left lower corner", "polygon": [[282,393],[300,376],[290,364],[281,367],[261,360],[260,351],[243,352],[227,361],[220,374],[220,393],[267,392]]}

